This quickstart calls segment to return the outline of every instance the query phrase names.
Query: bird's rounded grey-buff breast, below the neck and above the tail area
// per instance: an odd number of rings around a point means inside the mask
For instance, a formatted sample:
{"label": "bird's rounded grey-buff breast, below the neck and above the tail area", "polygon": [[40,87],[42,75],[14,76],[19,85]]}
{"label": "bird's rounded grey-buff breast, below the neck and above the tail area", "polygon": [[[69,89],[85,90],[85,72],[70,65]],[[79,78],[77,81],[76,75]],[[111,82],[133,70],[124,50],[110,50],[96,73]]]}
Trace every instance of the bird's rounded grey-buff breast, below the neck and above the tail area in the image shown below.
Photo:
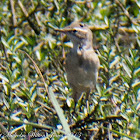
{"label": "bird's rounded grey-buff breast, below the neck and above the tail area", "polygon": [[[94,58],[97,57],[94,51],[89,54],[84,52],[82,55],[70,52],[66,58],[66,73],[68,82],[75,85],[90,87],[95,85],[98,68]],[[97,57],[98,58],[98,57]]]}

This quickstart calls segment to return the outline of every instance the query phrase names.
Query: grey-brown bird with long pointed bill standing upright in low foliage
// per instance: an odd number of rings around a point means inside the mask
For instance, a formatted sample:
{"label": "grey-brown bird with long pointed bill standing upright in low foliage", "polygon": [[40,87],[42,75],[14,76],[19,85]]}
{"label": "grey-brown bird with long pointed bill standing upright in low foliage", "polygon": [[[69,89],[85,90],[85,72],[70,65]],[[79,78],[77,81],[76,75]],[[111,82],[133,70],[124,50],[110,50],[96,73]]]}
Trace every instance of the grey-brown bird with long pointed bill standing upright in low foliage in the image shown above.
{"label": "grey-brown bird with long pointed bill standing upright in low foliage", "polygon": [[63,29],[57,29],[68,36],[73,47],[66,57],[66,77],[72,88],[72,98],[78,102],[82,93],[88,100],[95,89],[100,61],[93,48],[93,34],[89,27],[80,22],[73,22]]}

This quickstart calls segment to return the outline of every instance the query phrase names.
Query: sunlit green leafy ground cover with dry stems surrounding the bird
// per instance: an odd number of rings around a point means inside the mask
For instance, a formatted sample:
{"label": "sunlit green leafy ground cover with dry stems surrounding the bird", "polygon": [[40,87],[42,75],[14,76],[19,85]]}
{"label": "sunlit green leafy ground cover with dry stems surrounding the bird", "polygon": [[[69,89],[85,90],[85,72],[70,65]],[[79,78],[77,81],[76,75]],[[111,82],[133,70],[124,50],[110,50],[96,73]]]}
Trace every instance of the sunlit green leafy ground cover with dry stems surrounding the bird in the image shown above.
{"label": "sunlit green leafy ground cover with dry stems surrounding the bird", "polygon": [[[73,114],[57,108],[72,105],[64,70],[71,43],[54,29],[77,20],[93,31],[101,66],[89,106],[80,101]],[[70,139],[70,131],[75,139],[140,139],[139,25],[138,0],[1,0],[1,139]]]}

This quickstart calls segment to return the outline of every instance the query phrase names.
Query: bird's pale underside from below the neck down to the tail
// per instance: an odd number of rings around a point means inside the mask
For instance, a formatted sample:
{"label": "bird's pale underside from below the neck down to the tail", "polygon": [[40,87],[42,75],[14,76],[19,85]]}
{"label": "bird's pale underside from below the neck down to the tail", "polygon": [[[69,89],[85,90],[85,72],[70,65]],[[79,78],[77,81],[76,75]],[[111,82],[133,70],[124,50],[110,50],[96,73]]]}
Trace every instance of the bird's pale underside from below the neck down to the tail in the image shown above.
{"label": "bird's pale underside from below the neck down to the tail", "polygon": [[82,92],[89,95],[98,77],[99,59],[94,50],[70,52],[66,59],[67,80],[73,89],[72,97],[78,101]]}

